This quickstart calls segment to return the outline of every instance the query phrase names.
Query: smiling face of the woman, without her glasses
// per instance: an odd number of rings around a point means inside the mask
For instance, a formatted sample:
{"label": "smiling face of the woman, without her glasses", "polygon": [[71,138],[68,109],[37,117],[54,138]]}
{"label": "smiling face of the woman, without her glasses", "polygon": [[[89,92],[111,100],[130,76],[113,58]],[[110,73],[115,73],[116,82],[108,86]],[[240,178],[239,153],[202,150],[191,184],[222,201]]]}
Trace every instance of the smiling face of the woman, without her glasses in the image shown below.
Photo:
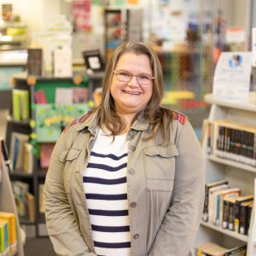
{"label": "smiling face of the woman, without her glasses", "polygon": [[[115,67],[115,72],[132,75],[143,75],[141,78],[153,76],[147,55],[125,53],[121,55]],[[124,72],[124,73],[122,73]],[[153,81],[143,85],[137,82],[137,77],[132,76],[130,82],[122,82],[113,74],[110,92],[113,96],[116,111],[119,115],[136,114],[148,104],[153,91]]]}

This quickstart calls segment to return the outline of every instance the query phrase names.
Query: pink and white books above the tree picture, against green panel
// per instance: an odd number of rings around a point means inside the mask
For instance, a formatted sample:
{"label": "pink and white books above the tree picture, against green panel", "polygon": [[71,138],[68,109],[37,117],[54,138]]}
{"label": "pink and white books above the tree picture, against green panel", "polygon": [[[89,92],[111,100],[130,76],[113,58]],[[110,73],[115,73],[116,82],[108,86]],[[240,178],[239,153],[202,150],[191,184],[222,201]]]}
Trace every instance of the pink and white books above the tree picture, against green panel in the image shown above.
{"label": "pink and white books above the tree picture, against green panel", "polygon": [[[86,103],[89,101],[89,90],[87,88],[72,87],[55,89],[55,104],[57,105],[71,105],[75,103]],[[48,104],[47,96],[44,90],[39,89],[35,92],[35,102],[37,104]]]}

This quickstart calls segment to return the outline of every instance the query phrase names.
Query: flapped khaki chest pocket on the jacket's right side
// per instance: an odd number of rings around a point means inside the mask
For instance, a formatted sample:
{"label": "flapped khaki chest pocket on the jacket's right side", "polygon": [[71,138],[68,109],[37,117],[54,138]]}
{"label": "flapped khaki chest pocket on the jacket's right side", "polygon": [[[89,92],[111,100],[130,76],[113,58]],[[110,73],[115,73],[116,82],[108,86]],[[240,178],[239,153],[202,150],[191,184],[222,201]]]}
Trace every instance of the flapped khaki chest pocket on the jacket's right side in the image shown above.
{"label": "flapped khaki chest pocket on the jacket's right side", "polygon": [[143,150],[147,190],[172,191],[177,147],[149,145]]}

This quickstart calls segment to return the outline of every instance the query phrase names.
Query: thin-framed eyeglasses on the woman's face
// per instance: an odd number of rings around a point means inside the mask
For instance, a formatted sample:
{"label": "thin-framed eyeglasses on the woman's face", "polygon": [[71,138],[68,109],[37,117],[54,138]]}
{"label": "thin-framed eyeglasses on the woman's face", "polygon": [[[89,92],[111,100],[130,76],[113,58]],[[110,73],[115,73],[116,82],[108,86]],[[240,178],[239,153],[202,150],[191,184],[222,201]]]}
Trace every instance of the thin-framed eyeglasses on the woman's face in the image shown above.
{"label": "thin-framed eyeglasses on the woman's face", "polygon": [[154,77],[152,77],[150,74],[140,73],[138,75],[134,75],[124,70],[119,70],[119,71],[113,70],[113,73],[116,75],[116,78],[120,82],[125,82],[125,83],[129,83],[132,77],[136,77],[137,83],[142,85],[149,85],[152,83],[152,80],[154,80]]}

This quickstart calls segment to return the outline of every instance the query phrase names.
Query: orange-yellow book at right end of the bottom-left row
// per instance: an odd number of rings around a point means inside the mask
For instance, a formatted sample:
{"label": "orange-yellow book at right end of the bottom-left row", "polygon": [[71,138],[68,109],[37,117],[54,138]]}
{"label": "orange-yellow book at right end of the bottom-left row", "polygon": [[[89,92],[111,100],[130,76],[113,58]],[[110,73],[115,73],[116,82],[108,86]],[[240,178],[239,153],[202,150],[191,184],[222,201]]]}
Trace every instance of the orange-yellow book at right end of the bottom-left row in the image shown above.
{"label": "orange-yellow book at right end of the bottom-left row", "polygon": [[17,248],[17,218],[13,212],[0,212],[0,219],[9,224],[9,252],[15,252]]}

